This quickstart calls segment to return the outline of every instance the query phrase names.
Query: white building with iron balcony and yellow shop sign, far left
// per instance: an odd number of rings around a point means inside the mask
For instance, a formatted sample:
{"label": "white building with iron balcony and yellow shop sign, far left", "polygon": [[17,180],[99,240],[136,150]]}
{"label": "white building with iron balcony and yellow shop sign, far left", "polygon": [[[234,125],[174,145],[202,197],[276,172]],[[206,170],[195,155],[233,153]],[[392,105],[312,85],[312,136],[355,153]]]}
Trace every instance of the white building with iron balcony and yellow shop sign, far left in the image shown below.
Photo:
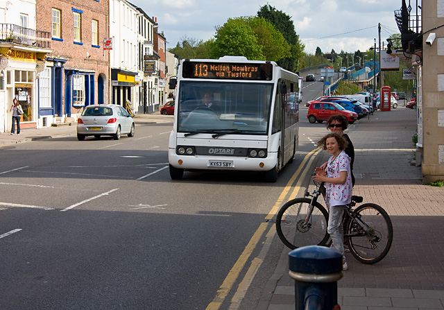
{"label": "white building with iron balcony and yellow shop sign, far left", "polygon": [[37,78],[50,38],[35,30],[35,0],[0,1],[0,132],[11,130],[13,98],[24,110],[21,128],[42,126]]}

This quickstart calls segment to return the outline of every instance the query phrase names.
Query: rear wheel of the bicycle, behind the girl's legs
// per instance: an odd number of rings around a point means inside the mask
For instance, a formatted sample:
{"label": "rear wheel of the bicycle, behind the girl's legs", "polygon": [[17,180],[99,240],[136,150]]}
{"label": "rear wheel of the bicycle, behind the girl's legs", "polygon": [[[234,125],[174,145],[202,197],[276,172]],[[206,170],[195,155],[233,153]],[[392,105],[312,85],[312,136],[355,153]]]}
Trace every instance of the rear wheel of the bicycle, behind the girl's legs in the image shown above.
{"label": "rear wheel of the bicycle, behind the girl's legs", "polygon": [[390,217],[374,203],[360,205],[355,213],[355,221],[349,218],[346,225],[350,252],[361,263],[375,264],[387,255],[393,241]]}

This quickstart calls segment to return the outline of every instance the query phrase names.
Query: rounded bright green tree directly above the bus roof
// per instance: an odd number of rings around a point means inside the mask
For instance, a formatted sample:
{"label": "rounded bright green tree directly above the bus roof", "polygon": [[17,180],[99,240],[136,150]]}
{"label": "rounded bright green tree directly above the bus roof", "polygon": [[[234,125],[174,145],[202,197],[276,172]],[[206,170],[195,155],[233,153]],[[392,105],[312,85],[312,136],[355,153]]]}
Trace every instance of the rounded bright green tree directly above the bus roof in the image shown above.
{"label": "rounded bright green tree directly above the bus roof", "polygon": [[211,57],[224,55],[245,56],[249,60],[265,60],[262,46],[257,44],[255,32],[244,19],[228,19],[223,26],[216,27]]}

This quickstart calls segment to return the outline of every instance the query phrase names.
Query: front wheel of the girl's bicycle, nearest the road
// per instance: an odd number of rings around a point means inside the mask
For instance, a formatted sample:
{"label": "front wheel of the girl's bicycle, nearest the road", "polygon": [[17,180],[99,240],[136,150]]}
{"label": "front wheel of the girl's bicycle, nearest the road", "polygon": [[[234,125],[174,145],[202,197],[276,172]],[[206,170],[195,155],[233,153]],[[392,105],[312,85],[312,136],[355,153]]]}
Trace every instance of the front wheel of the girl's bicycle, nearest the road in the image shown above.
{"label": "front wheel of the girl's bicycle, nearest the road", "polygon": [[291,250],[325,245],[329,237],[327,225],[327,210],[319,203],[311,205],[309,198],[290,200],[280,208],[276,217],[278,236]]}

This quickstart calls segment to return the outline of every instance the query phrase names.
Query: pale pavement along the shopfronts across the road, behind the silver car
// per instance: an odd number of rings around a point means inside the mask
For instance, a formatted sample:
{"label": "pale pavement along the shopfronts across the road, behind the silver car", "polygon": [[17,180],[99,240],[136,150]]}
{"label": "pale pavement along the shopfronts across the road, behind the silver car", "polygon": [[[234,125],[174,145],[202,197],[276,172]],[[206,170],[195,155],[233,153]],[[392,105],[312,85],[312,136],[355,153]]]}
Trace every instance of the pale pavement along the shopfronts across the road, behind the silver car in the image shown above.
{"label": "pale pavement along the shopfronts across the road, behind the silver car", "polygon": [[[136,125],[148,123],[172,123],[173,115],[162,115],[160,112],[151,114],[137,114],[134,117]],[[57,126],[44,128],[22,128],[20,135],[11,135],[10,132],[0,132],[0,146],[10,146],[28,141],[37,141],[41,139],[55,139],[60,137],[76,137],[77,123],[58,123]],[[17,131],[16,131],[17,132]]]}

